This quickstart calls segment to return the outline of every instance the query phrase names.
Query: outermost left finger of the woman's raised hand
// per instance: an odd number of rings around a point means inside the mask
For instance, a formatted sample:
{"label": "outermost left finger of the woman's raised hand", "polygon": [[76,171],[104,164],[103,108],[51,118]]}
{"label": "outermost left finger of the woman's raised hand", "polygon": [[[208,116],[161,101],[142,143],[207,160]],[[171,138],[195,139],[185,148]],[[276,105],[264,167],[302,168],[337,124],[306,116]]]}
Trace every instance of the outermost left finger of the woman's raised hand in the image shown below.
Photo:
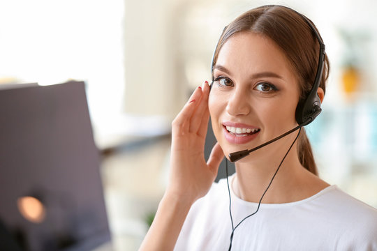
{"label": "outermost left finger of the woman's raised hand", "polygon": [[202,95],[202,90],[200,87],[195,89],[191,97],[186,102],[186,105],[182,108],[181,112],[175,117],[172,121],[172,130],[180,129],[185,130],[184,126],[186,124],[186,129],[188,125],[188,121],[191,119],[193,112],[195,111],[195,107],[197,105],[198,100],[200,100],[200,96]]}

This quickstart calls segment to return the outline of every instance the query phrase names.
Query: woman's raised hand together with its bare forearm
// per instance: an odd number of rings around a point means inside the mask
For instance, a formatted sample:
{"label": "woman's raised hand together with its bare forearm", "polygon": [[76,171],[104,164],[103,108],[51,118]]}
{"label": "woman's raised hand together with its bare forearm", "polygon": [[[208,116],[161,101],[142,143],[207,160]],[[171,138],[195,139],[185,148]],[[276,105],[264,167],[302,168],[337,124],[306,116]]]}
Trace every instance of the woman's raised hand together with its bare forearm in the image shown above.
{"label": "woman's raised hand together with its bare forearm", "polygon": [[208,96],[206,82],[195,89],[172,122],[170,181],[140,251],[173,250],[191,205],[208,192],[216,178],[224,155],[216,144],[205,162]]}

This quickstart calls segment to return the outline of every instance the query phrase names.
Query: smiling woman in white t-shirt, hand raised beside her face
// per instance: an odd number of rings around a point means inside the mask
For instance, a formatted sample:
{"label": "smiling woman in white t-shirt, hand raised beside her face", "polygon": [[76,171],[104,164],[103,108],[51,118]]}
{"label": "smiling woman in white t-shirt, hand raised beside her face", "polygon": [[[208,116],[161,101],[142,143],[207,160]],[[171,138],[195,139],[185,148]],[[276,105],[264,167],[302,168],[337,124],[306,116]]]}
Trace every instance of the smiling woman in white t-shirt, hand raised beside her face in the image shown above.
{"label": "smiling woman in white t-shirt, hand raised beside her face", "polygon": [[[140,250],[377,250],[376,209],[317,176],[297,123],[320,69],[316,32],[283,6],[249,10],[226,27],[212,88],[195,89],[172,123],[170,183]],[[313,89],[321,102],[327,56],[323,63]],[[209,114],[218,143],[205,162]],[[223,155],[290,130],[212,184]]]}

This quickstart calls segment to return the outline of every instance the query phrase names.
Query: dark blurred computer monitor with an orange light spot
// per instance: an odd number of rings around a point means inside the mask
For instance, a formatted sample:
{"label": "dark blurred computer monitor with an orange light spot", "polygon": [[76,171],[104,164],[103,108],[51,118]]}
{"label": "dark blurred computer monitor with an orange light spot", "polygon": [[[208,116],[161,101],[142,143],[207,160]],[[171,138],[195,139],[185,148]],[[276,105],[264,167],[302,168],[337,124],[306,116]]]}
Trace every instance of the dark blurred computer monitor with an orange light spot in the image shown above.
{"label": "dark blurred computer monitor with an orange light spot", "polygon": [[110,241],[84,82],[0,90],[0,191],[0,221],[21,250]]}

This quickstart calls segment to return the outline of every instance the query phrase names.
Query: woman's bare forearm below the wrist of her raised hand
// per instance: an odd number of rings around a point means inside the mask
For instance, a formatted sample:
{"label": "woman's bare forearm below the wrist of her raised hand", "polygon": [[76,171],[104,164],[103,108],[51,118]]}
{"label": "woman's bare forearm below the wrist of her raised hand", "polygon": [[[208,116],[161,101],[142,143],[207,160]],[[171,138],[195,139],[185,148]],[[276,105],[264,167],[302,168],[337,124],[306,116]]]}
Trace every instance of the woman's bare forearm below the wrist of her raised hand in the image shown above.
{"label": "woman's bare forearm below the wrist of her raised hand", "polygon": [[190,201],[165,194],[139,251],[173,250],[191,204]]}

